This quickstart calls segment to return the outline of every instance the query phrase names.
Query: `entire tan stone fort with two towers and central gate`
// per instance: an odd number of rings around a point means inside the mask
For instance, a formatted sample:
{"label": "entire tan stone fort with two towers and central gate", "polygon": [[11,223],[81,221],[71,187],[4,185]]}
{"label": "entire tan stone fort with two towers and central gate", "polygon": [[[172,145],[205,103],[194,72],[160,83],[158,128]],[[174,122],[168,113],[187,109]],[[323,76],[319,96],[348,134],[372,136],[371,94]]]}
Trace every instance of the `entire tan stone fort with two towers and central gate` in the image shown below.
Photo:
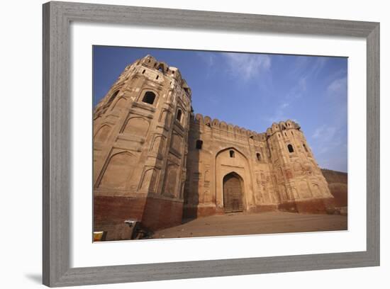
{"label": "entire tan stone fort with two towers and central gate", "polygon": [[332,210],[335,198],[298,123],[265,132],[194,114],[175,67],[130,64],[94,111],[94,230],[129,239],[229,212]]}

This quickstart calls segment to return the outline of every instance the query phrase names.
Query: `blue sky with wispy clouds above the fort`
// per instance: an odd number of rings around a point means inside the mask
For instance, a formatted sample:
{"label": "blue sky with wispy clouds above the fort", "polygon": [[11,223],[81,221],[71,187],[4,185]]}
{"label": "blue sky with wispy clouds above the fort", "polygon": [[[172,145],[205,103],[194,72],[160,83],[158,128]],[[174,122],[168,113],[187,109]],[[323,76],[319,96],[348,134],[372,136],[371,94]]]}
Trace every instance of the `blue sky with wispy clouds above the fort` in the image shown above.
{"label": "blue sky with wispy clouds above the fort", "polygon": [[177,67],[194,113],[265,132],[301,125],[323,169],[347,171],[347,58],[260,53],[93,47],[94,106],[128,64],[145,55]]}

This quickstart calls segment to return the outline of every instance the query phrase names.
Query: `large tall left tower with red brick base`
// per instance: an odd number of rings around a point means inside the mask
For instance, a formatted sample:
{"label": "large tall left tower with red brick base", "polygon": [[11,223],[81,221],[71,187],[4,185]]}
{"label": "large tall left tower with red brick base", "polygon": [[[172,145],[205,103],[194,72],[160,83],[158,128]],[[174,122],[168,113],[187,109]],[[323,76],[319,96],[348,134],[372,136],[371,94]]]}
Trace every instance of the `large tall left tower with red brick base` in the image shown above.
{"label": "large tall left tower with red brick base", "polygon": [[128,65],[94,111],[94,230],[128,239],[182,221],[191,89],[147,55]]}

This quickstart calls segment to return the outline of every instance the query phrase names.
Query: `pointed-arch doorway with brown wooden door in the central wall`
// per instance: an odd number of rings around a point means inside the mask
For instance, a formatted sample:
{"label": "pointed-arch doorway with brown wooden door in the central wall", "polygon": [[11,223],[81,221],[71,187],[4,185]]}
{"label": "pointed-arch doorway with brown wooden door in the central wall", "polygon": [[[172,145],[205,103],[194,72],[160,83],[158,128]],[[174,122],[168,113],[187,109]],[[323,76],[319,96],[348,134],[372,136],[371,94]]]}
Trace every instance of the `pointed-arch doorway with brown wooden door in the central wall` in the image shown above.
{"label": "pointed-arch doorway with brown wooden door in the central wall", "polygon": [[243,183],[234,172],[223,177],[223,206],[225,212],[243,212]]}

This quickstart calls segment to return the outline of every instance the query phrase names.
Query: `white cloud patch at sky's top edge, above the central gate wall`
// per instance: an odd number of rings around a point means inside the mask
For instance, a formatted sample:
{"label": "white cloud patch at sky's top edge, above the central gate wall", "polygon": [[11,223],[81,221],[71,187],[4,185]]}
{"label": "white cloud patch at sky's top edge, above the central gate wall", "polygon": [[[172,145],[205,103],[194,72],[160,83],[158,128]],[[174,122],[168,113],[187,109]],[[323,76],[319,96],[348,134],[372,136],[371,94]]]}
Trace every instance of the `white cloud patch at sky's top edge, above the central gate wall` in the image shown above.
{"label": "white cloud patch at sky's top edge, above the central gate wall", "polygon": [[271,68],[271,57],[244,53],[223,53],[230,74],[245,81],[259,77]]}

